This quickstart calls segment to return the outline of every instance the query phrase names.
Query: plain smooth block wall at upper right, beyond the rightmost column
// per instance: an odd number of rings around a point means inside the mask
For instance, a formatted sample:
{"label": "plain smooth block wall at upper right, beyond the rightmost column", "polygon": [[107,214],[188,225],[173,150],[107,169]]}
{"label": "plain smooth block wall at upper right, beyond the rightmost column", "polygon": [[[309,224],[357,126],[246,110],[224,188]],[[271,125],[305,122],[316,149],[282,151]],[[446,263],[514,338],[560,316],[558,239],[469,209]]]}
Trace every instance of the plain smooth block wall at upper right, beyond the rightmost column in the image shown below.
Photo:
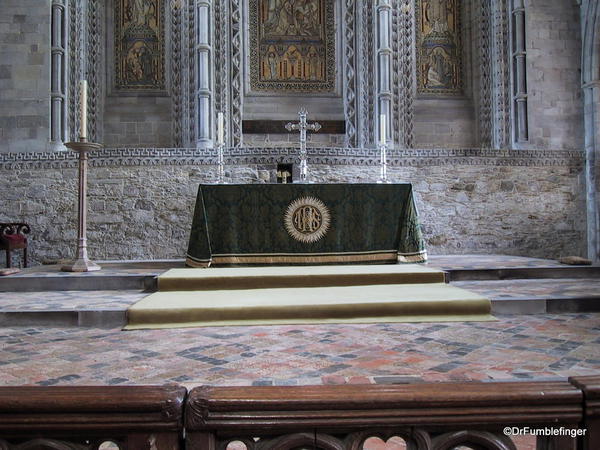
{"label": "plain smooth block wall at upper right, beyond the rightmost column", "polygon": [[583,148],[581,25],[576,2],[526,0],[529,144]]}

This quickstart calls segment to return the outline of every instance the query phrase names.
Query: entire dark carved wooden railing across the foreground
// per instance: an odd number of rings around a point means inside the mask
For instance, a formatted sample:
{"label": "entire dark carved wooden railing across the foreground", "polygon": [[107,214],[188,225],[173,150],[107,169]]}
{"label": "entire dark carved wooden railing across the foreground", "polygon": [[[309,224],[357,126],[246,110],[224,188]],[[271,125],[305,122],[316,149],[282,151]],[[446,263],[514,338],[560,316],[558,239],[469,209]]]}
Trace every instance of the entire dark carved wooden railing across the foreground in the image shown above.
{"label": "entire dark carved wooden railing across the foreground", "polygon": [[[0,450],[600,449],[600,376],[407,385],[0,388]],[[554,431],[553,431],[554,430]],[[391,441],[390,441],[391,442]],[[383,444],[382,444],[383,445]]]}

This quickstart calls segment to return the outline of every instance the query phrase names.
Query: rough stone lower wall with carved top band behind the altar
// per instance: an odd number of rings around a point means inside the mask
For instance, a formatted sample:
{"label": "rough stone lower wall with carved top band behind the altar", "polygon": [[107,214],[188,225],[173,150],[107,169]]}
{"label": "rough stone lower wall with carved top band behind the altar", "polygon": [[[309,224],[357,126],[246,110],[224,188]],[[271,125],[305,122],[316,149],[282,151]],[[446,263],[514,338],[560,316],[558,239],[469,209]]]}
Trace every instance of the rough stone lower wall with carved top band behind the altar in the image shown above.
{"label": "rough stone lower wall with carved top band behind the altar", "polygon": [[[273,182],[275,162],[295,160],[288,149],[231,152],[226,175],[240,183]],[[569,152],[392,151],[389,176],[413,183],[431,254],[582,255],[581,158],[575,152],[552,153]],[[91,258],[182,258],[197,187],[214,182],[214,161],[213,154],[191,149],[106,150],[92,156]],[[318,182],[374,182],[379,175],[374,161],[364,150],[311,151],[310,173]],[[31,224],[35,263],[74,255],[76,177],[71,154],[47,159],[5,155],[0,161],[5,193],[0,221]]]}

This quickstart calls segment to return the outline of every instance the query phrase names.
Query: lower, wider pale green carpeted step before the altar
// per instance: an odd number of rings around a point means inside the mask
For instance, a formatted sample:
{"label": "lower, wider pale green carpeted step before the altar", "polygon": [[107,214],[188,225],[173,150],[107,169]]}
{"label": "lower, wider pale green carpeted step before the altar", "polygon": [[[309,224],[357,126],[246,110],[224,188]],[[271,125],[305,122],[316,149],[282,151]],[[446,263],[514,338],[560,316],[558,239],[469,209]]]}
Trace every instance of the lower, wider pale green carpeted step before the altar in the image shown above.
{"label": "lower, wider pale green carpeted step before the altar", "polygon": [[443,283],[157,292],[126,329],[297,323],[493,320],[488,299]]}

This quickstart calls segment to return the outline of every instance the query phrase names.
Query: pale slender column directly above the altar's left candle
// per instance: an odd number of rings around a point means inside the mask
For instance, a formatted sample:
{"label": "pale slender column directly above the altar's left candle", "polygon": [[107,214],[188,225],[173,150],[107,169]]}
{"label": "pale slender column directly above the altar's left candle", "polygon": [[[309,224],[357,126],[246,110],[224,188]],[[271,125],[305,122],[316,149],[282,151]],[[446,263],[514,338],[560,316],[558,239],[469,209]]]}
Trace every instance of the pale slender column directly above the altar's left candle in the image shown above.
{"label": "pale slender column directly above the altar's left candle", "polygon": [[196,23],[196,147],[213,146],[212,1],[198,0]]}

